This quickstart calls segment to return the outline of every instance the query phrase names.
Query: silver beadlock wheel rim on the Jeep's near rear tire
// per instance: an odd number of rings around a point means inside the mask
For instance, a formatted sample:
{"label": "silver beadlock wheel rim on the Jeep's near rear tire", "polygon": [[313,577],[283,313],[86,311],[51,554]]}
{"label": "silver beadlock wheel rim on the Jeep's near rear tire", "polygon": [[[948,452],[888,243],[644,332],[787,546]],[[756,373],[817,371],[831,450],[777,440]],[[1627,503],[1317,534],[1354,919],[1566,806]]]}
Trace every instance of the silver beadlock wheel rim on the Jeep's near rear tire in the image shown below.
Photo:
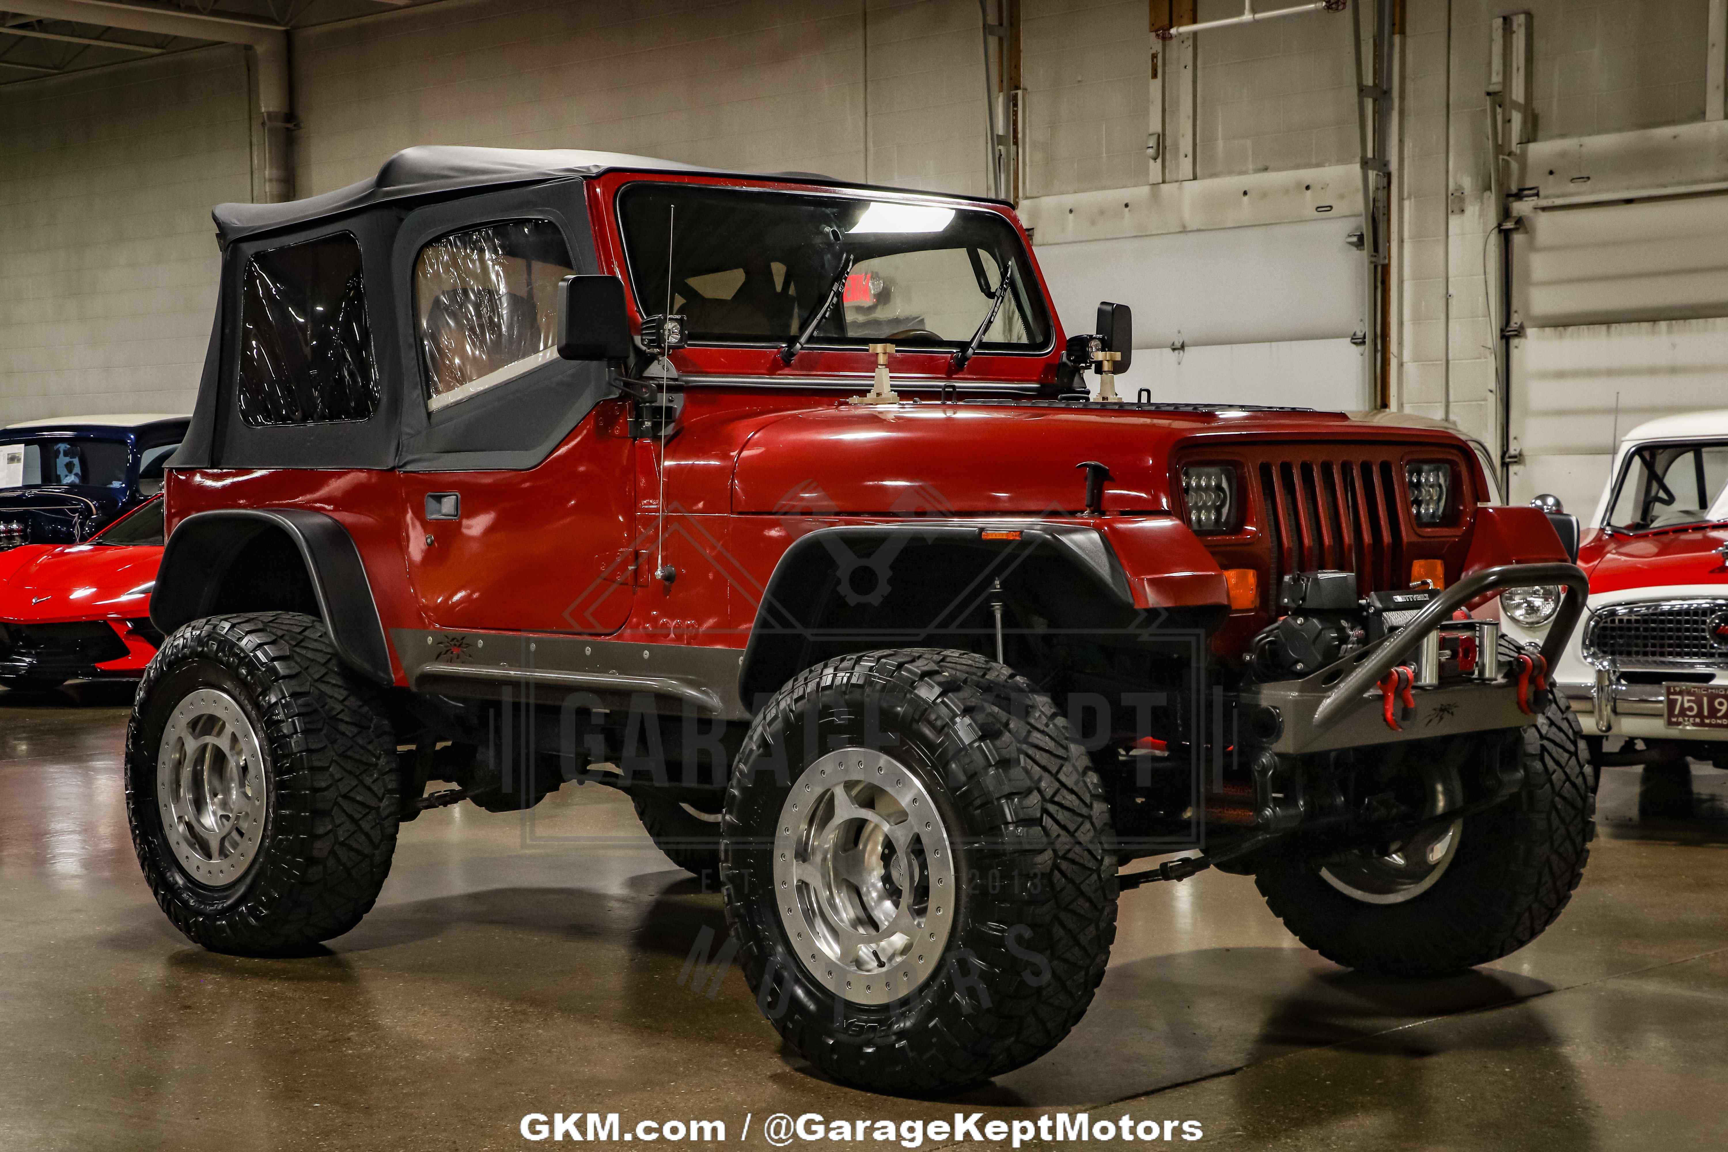
{"label": "silver beadlock wheel rim on the Jeep's near rear tire", "polygon": [[156,803],[180,867],[206,888],[235,884],[257,857],[270,786],[257,732],[223,691],[200,687],[162,729]]}

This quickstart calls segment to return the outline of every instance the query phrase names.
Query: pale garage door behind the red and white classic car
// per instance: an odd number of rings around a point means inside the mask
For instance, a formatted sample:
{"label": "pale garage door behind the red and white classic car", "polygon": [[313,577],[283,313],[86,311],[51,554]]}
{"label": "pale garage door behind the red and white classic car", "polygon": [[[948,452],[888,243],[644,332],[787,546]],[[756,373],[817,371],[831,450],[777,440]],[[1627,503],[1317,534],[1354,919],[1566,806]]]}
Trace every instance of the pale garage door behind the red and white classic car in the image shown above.
{"label": "pale garage door behind the red and white classic car", "polygon": [[1728,197],[1528,212],[1512,306],[1512,499],[1590,515],[1617,435],[1728,406]]}

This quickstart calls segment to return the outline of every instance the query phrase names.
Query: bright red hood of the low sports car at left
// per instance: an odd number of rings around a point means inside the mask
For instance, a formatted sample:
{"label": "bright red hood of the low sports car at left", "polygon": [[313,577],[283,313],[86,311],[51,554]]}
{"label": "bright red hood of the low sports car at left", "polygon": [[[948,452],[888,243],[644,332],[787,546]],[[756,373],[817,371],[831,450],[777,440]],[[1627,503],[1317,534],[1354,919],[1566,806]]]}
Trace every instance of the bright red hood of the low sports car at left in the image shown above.
{"label": "bright red hood of the low sports car at left", "polygon": [[[10,558],[29,553],[10,565]],[[150,615],[159,544],[67,544],[0,554],[0,620],[97,620]]]}

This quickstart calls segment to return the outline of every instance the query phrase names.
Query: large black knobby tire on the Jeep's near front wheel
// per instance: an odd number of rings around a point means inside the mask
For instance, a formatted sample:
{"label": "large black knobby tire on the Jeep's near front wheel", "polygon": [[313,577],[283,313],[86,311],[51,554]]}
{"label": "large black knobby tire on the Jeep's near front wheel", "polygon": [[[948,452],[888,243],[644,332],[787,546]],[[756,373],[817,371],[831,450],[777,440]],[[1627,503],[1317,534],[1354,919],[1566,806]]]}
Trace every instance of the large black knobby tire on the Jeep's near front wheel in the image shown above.
{"label": "large black knobby tire on the Jeep's near front wheel", "polygon": [[[1109,808],[1068,722],[1030,689],[968,653],[873,651],[800,672],[752,724],[726,798],[726,917],[757,1003],[823,1074],[873,1092],[954,1092],[1039,1059],[1090,1005],[1116,934]],[[866,746],[866,729],[886,739],[959,845],[956,962],[893,1005],[828,991],[774,908],[774,824],[807,762],[807,718],[821,751]]]}

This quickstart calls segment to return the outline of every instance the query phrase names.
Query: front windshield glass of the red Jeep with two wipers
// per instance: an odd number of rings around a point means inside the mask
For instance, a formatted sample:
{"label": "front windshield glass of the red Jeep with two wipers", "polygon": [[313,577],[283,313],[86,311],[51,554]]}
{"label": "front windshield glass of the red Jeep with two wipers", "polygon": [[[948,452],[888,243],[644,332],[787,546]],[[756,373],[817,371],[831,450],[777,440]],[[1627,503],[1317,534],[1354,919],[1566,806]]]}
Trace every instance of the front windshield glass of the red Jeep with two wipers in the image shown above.
{"label": "front windshield glass of the red Jeep with two wipers", "polygon": [[634,185],[619,206],[636,299],[650,314],[665,309],[670,242],[672,313],[688,320],[693,342],[785,344],[850,256],[840,307],[812,344],[962,347],[990,316],[1009,264],[1007,299],[978,349],[1049,344],[1020,235],[995,212],[691,185]]}

